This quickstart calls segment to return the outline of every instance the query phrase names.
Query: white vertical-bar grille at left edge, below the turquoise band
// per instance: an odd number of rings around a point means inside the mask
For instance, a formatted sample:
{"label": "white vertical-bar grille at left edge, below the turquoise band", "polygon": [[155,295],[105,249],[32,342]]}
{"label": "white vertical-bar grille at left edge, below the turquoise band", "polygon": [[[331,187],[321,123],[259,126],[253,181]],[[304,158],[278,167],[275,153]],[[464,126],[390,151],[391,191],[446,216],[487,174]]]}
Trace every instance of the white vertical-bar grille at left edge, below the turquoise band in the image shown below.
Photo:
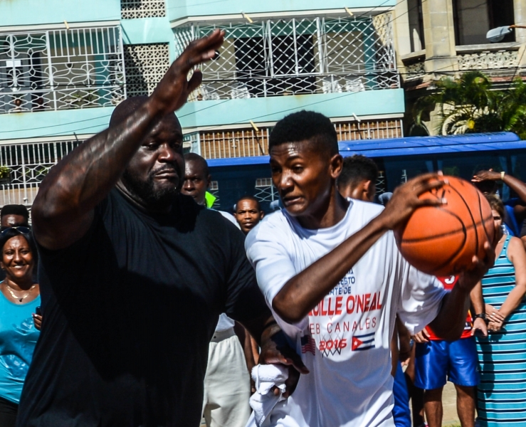
{"label": "white vertical-bar grille at left edge, below the turquoise band", "polygon": [[31,206],[44,176],[83,141],[34,142],[0,145],[0,164],[11,170],[0,180],[0,205]]}

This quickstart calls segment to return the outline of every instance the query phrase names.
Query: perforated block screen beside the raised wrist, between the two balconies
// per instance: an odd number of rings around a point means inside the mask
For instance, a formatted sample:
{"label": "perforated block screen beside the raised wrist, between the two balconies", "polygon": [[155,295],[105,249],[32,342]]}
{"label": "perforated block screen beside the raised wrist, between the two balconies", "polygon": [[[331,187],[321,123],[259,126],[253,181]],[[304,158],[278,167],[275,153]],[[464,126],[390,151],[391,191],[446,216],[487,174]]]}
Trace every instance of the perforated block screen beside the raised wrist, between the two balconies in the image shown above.
{"label": "perforated block screen beside the raised wrist, between the two balconies", "polygon": [[126,45],[127,96],[151,95],[170,66],[168,43]]}

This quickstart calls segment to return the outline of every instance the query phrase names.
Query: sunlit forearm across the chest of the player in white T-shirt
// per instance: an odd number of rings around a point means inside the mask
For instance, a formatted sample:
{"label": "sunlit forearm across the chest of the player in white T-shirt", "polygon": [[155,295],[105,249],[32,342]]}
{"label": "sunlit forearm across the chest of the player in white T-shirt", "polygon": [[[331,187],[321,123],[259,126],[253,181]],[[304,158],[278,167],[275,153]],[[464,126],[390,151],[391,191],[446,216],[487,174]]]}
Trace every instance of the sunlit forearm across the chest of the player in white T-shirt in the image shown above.
{"label": "sunlit forearm across the chest of the player in white T-shirt", "polygon": [[290,279],[274,297],[275,312],[287,322],[303,319],[387,229],[382,215],[374,218],[340,246]]}

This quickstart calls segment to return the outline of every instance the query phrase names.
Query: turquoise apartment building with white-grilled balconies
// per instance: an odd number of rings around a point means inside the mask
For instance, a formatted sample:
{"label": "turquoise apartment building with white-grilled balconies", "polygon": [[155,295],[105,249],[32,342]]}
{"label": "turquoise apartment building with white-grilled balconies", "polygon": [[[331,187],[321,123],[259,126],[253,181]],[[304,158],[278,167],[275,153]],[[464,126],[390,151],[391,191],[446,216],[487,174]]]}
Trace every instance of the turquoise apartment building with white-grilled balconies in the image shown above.
{"label": "turquoise apartment building with white-grilled balconies", "polygon": [[[207,159],[268,154],[274,123],[302,109],[331,117],[340,139],[401,136],[395,6],[0,1],[0,206],[31,206],[53,164],[103,130],[125,97],[151,93],[184,47],[214,28],[226,42],[178,112],[187,150]],[[265,194],[268,181],[259,184]]]}

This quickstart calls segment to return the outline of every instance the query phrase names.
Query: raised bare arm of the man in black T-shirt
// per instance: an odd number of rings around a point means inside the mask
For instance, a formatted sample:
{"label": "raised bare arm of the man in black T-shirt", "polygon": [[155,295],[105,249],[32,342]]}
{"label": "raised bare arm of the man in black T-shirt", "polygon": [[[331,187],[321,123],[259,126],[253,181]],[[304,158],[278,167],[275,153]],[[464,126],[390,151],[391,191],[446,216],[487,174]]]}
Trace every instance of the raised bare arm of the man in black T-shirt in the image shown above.
{"label": "raised bare arm of the man in black T-shirt", "polygon": [[84,236],[93,209],[115,186],[142,139],[167,114],[186,102],[201,83],[195,65],[214,57],[222,31],[193,41],[172,64],[147,102],[127,119],[73,150],[43,179],[32,209],[33,232],[42,246],[59,249]]}

